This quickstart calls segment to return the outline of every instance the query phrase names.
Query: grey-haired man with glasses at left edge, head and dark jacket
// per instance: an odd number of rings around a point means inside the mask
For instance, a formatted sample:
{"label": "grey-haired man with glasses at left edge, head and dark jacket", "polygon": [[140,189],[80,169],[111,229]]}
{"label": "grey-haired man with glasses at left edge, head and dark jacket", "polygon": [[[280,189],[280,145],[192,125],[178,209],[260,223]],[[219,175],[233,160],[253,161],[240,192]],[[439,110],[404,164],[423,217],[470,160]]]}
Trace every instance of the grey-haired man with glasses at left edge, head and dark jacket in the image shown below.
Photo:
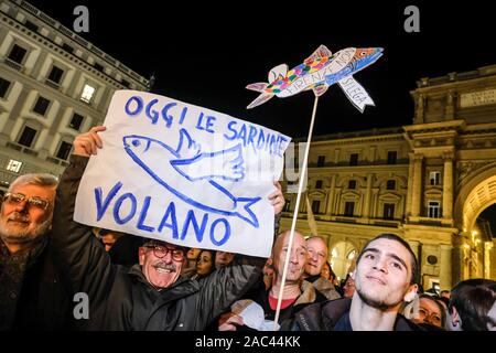
{"label": "grey-haired man with glasses at left edge, head and dark jacket", "polygon": [[68,291],[50,252],[57,180],[25,174],[3,195],[0,215],[0,330],[66,329]]}

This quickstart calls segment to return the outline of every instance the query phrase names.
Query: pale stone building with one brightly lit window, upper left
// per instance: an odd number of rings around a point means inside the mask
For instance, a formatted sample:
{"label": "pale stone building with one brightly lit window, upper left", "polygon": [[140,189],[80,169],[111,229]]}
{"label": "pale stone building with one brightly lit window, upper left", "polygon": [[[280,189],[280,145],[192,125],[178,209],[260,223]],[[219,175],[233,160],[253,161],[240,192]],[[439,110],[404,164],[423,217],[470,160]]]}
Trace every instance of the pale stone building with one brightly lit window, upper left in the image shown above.
{"label": "pale stone building with one brightly lit window, upper left", "polygon": [[0,189],[67,165],[74,137],[104,121],[117,89],[148,79],[21,0],[0,1]]}

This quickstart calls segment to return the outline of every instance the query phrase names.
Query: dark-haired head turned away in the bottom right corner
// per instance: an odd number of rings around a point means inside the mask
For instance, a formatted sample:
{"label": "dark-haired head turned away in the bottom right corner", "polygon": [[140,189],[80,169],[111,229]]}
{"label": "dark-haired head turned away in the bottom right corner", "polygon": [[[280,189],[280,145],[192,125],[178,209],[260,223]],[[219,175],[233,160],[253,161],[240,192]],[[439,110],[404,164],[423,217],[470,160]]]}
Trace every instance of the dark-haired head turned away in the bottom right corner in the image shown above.
{"label": "dark-haired head turned away in the bottom right corner", "polygon": [[468,279],[451,290],[445,328],[450,331],[486,331],[488,312],[494,306],[496,293],[490,290],[495,281]]}

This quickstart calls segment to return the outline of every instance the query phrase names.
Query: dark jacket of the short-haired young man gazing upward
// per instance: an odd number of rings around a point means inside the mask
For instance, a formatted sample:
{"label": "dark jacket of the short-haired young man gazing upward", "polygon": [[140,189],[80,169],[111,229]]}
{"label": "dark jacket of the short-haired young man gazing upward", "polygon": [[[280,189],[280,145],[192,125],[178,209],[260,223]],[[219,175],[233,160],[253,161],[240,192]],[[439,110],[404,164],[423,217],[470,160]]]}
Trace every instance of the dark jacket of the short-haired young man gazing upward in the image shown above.
{"label": "dark jacket of the short-haired young man gazing upward", "polygon": [[[343,298],[308,306],[294,315],[293,329],[298,331],[334,331],[336,323],[349,314],[352,299]],[[398,314],[395,331],[422,331],[410,320]]]}

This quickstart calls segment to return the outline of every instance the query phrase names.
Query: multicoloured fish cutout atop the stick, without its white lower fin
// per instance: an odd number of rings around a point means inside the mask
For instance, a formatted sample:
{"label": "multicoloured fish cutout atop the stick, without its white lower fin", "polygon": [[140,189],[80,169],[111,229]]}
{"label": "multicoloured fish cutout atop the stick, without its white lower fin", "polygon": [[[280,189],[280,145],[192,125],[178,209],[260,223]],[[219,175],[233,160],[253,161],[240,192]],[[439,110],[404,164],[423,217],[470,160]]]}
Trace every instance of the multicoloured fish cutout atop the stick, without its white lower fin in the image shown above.
{"label": "multicoloured fish cutout atop the stick, without its white lower fin", "polygon": [[[309,89],[320,97],[328,86],[337,82],[332,82],[332,78],[327,82],[327,77],[343,79],[351,76],[376,62],[381,56],[381,47],[346,47],[333,55],[325,45],[321,45],[302,64],[290,71],[287,64],[273,67],[269,72],[269,83],[248,85],[246,88],[261,94],[247,108],[257,107],[273,96],[285,98]],[[346,71],[341,73],[345,68]]]}

